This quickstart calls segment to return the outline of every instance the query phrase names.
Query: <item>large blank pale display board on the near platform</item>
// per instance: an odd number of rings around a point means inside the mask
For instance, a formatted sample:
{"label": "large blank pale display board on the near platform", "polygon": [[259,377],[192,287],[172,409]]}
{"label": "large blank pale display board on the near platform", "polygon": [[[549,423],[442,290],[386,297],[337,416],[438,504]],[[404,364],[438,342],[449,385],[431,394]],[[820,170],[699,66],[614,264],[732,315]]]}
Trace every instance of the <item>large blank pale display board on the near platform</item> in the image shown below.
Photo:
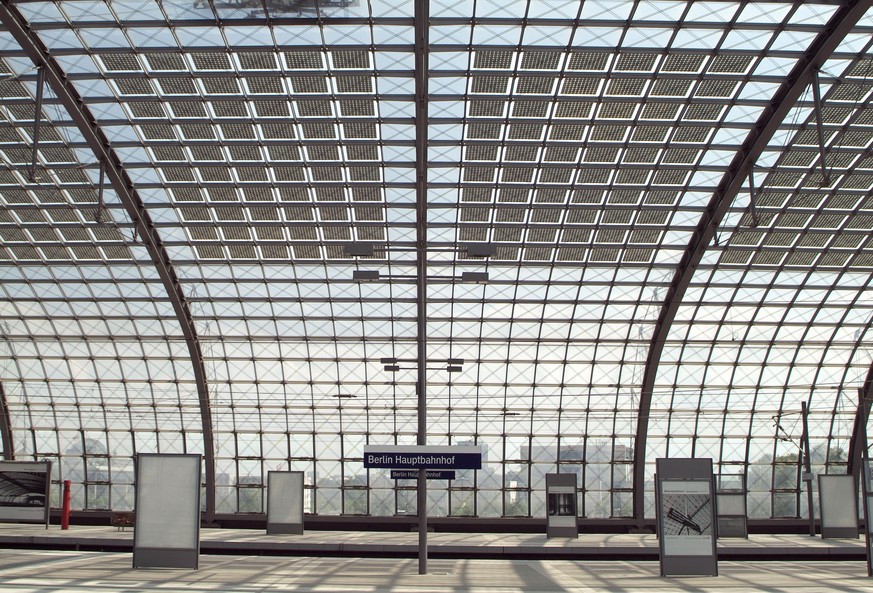
{"label": "large blank pale display board on the near platform", "polygon": [[200,557],[200,455],[136,456],[134,568],[193,568]]}

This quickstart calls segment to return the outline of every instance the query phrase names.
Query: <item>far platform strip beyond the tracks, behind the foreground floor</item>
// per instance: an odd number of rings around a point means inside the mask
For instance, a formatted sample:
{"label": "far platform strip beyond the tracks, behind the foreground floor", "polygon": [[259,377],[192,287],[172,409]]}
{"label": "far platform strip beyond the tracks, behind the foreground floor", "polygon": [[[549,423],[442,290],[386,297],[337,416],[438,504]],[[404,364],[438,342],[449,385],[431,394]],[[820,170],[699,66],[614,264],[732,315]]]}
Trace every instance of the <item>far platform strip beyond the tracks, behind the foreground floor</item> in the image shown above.
{"label": "far platform strip beyond the tracks, behind the foreground floor", "polygon": [[[133,530],[72,525],[0,524],[0,548],[124,552],[133,550]],[[307,531],[270,535],[253,529],[201,529],[201,554],[416,558],[418,534],[372,531]],[[430,533],[428,555],[435,559],[492,560],[658,560],[651,534],[582,534],[577,539],[547,539],[545,534]],[[720,561],[866,561],[863,539],[809,535],[753,535],[721,539]]]}

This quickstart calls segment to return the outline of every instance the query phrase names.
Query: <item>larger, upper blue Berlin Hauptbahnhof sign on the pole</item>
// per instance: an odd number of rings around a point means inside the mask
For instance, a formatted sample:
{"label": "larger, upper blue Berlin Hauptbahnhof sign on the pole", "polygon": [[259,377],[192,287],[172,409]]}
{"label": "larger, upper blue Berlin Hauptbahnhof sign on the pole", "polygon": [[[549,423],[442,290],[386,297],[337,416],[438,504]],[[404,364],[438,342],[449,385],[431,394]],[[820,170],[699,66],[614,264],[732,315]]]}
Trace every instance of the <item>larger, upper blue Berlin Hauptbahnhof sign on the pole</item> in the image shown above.
{"label": "larger, upper blue Berlin Hauptbahnhof sign on the pole", "polygon": [[364,467],[382,469],[482,469],[479,446],[365,445]]}

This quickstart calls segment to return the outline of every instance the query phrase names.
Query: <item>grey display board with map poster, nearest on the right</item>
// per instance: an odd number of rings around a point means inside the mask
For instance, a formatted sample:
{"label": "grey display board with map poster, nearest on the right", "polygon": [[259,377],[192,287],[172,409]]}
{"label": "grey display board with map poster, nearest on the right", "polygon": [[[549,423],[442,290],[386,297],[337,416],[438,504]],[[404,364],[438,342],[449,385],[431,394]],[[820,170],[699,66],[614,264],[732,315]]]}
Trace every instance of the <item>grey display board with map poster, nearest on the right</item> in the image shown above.
{"label": "grey display board with map poster, nearest on the right", "polygon": [[711,459],[658,459],[661,576],[717,575]]}

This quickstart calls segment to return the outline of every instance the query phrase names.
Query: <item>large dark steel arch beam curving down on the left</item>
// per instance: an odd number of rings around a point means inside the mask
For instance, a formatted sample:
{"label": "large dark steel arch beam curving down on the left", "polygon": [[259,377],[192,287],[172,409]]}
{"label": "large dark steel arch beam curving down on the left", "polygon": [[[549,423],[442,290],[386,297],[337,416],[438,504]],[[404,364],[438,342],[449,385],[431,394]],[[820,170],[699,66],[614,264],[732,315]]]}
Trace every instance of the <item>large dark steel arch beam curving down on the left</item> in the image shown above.
{"label": "large dark steel arch beam curving down on the left", "polygon": [[29,27],[27,21],[13,7],[10,0],[0,0],[0,22],[12,34],[34,65],[45,70],[45,81],[51,86],[58,100],[75,122],[88,146],[94,152],[97,160],[103,164],[106,177],[118,194],[127,214],[133,221],[137,234],[148,250],[154,262],[155,269],[167,290],[167,297],[173,304],[173,310],[179,320],[197,384],[197,395],[200,401],[200,418],[203,425],[203,454],[206,479],[206,511],[207,523],[215,515],[215,454],[212,432],[212,413],[210,411],[209,389],[206,380],[206,367],[203,363],[203,352],[194,325],[191,309],[182,291],[182,286],[170,255],[161,242],[160,234],[146,210],[145,204],[137,194],[136,188],[118,155],[112,149],[109,139],[100,129],[96,118],[91,114],[78,91],[67,79],[63,69],[51,56],[37,34]]}

